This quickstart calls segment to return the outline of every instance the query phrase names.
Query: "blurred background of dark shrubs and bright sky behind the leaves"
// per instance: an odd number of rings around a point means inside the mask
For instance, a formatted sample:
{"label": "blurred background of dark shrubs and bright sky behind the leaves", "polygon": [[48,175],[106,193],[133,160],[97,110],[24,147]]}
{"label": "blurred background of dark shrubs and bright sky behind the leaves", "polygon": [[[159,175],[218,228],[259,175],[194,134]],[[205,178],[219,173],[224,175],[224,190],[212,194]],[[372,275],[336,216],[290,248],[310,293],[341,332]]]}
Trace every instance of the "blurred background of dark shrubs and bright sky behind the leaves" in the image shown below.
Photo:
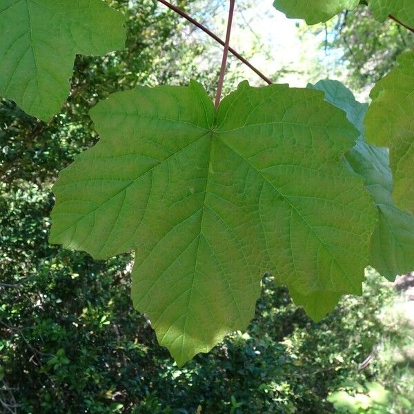
{"label": "blurred background of dark shrubs and bright sky behind the leaves", "polygon": [[[97,141],[97,101],[189,79],[215,94],[221,46],[156,0],[107,2],[128,16],[126,49],[77,57],[50,124],[0,100],[0,413],[413,413],[414,275],[391,284],[367,269],[362,297],[318,324],[266,276],[248,330],[177,368],[132,308],[132,255],[96,262],[48,244],[50,188]],[[174,3],[224,37],[225,1]],[[271,3],[237,1],[231,44],[274,82],[329,77],[367,101],[414,46],[364,6],[309,27]],[[264,84],[230,56],[224,92],[242,79]]]}

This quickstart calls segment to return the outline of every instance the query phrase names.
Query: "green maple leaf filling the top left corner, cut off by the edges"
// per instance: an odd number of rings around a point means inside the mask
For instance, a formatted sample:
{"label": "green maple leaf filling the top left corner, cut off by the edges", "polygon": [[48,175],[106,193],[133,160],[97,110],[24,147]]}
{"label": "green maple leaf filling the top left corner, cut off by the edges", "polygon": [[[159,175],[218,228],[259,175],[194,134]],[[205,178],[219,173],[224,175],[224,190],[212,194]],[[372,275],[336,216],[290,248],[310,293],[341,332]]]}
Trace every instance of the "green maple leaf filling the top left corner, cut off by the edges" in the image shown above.
{"label": "green maple leaf filling the top left corner, cut off by the edges", "polygon": [[101,0],[1,0],[0,95],[49,121],[69,95],[75,55],[124,48],[124,21]]}

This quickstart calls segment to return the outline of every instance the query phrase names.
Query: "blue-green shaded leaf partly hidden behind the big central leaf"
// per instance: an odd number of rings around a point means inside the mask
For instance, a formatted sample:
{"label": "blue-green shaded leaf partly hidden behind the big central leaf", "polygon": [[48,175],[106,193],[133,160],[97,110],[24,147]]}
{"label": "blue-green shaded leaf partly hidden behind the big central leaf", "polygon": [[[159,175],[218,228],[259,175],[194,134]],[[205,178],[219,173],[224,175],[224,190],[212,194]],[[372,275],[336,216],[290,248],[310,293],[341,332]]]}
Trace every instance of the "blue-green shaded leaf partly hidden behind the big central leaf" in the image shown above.
{"label": "blue-green shaded leaf partly hidden behind the big central leaf", "polygon": [[371,239],[370,264],[384,277],[394,280],[396,275],[414,270],[414,217],[395,207],[388,150],[366,143],[364,117],[368,106],[356,101],[346,86],[326,80],[319,81],[314,88],[325,92],[328,102],[344,110],[361,133],[355,147],[345,155],[346,164],[364,177],[378,208],[379,222]]}

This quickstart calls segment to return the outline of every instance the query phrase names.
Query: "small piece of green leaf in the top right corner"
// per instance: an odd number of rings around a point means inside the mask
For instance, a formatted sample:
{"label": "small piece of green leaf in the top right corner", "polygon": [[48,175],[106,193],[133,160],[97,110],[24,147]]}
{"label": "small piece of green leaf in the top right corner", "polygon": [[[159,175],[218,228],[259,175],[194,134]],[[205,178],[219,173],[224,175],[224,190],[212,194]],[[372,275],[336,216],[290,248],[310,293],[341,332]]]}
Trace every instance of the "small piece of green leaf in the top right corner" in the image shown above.
{"label": "small piece of green leaf in the top right corner", "polygon": [[393,14],[398,20],[414,28],[414,1],[412,0],[369,0],[369,8],[379,21],[386,21],[389,14]]}

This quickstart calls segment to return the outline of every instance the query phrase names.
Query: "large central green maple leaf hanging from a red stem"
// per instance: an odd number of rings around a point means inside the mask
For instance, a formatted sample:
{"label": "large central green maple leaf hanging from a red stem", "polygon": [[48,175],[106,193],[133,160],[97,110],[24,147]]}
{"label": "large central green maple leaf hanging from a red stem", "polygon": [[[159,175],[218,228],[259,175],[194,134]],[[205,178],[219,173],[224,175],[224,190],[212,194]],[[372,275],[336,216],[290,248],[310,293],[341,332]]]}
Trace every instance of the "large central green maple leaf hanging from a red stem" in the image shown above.
{"label": "large central green maple leaf hanging from a red stem", "polygon": [[322,92],[247,82],[119,92],[101,140],[54,186],[50,241],[102,259],[135,250],[132,300],[177,364],[253,317],[272,270],[298,295],[359,293],[375,206],[342,155],[358,132]]}

